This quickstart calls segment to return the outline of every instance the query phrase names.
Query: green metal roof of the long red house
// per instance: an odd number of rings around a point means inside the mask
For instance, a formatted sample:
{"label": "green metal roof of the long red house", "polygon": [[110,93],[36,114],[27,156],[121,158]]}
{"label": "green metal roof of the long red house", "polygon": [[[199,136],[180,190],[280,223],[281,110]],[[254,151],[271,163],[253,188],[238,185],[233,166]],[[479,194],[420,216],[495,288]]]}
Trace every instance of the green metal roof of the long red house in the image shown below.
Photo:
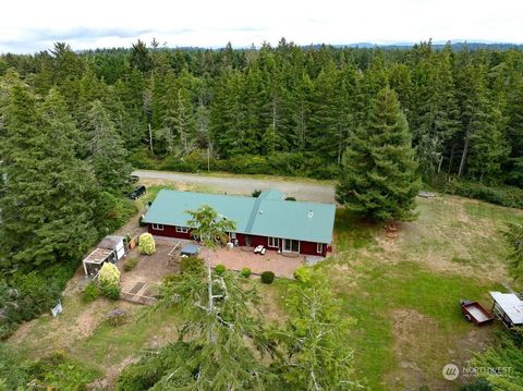
{"label": "green metal roof of the long red house", "polygon": [[187,210],[206,204],[236,223],[236,232],[331,243],[336,207],[330,204],[283,200],[278,191],[263,192],[259,197],[161,190],[144,222],[186,227]]}

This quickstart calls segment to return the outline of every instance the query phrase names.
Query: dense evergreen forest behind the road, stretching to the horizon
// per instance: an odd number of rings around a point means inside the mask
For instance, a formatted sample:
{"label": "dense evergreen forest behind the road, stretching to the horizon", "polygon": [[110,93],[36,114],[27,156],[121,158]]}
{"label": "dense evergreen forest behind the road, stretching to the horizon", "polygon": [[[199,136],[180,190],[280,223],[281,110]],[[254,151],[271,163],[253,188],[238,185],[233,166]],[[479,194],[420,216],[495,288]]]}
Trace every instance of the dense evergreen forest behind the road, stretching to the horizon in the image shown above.
{"label": "dense evergreen forest behind the road, stretching to the horizon", "polygon": [[40,97],[57,88],[82,129],[94,101],[136,167],[337,178],[385,86],[398,94],[418,171],[523,186],[523,52],[299,47],[4,54]]}

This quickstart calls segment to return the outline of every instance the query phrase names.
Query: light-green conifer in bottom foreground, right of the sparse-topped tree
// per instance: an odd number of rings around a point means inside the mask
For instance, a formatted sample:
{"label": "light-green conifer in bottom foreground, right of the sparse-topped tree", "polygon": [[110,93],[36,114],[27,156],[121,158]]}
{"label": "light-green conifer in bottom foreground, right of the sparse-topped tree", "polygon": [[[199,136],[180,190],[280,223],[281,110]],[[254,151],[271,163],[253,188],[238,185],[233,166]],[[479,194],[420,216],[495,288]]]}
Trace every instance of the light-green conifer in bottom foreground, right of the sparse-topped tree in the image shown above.
{"label": "light-green conifer in bottom foreground, right of the sparse-topped tree", "polygon": [[[342,346],[353,319],[342,317],[329,281],[316,272],[294,285],[287,301],[290,319],[280,333],[281,380],[290,390],[357,390],[354,353]],[[280,380],[280,381],[281,381]]]}

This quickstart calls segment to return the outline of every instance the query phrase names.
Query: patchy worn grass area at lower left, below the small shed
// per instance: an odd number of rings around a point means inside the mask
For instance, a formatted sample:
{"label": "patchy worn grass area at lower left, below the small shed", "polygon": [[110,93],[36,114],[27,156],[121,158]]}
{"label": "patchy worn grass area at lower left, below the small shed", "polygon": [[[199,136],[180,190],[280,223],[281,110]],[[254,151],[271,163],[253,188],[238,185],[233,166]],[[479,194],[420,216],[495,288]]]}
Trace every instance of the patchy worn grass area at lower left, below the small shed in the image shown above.
{"label": "patchy worn grass area at lower left, below the small shed", "polygon": [[[106,298],[85,304],[77,294],[68,295],[62,302],[61,315],[45,315],[25,323],[8,343],[28,359],[62,352],[85,368],[114,380],[144,349],[156,349],[177,338],[178,317],[173,309],[151,311],[149,307]],[[119,327],[105,321],[106,315],[115,308],[127,313],[127,320]]]}

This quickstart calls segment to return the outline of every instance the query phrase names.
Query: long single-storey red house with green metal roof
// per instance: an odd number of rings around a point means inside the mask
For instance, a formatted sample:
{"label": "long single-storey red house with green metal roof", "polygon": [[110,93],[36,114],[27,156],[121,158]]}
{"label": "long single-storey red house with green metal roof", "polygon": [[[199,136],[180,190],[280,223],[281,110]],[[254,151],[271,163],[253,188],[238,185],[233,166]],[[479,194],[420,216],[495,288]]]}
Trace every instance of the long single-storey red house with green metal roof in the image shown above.
{"label": "long single-storey red house with green metal roof", "polygon": [[229,237],[238,246],[263,245],[282,253],[326,256],[332,242],[335,205],[284,200],[276,190],[257,198],[162,190],[144,217],[156,236],[193,239],[187,210],[208,205],[232,220]]}

